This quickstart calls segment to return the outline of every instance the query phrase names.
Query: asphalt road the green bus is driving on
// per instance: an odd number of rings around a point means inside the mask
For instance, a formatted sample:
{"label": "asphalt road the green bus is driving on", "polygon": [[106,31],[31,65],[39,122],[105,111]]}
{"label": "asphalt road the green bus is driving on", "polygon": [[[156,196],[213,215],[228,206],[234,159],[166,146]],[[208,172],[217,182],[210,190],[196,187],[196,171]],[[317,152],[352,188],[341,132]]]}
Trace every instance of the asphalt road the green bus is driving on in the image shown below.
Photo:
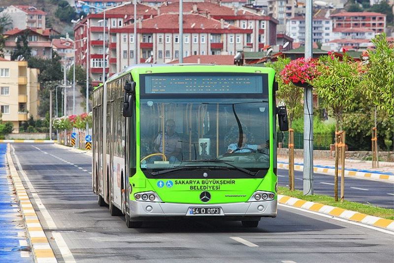
{"label": "asphalt road the green bus is driving on", "polygon": [[[95,263],[376,263],[394,259],[392,234],[283,206],[277,218],[263,219],[257,229],[245,229],[240,222],[193,221],[127,229],[123,217],[112,217],[107,208],[98,206],[91,190],[90,157],[54,145],[13,147],[48,212],[42,208],[38,216],[60,262],[63,258]],[[48,215],[53,221],[48,221]]]}

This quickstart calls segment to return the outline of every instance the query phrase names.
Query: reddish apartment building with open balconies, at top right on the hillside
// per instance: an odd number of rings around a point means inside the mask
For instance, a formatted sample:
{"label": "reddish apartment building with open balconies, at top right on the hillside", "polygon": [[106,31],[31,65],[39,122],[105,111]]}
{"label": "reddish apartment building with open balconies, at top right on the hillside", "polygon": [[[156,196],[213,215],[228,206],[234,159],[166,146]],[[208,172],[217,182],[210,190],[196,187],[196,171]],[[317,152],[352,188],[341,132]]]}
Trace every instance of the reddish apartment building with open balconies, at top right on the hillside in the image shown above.
{"label": "reddish apartment building with open balconies, at top right on the hillside", "polygon": [[340,12],[331,14],[333,29],[339,28],[364,28],[376,33],[386,29],[386,15],[375,12]]}

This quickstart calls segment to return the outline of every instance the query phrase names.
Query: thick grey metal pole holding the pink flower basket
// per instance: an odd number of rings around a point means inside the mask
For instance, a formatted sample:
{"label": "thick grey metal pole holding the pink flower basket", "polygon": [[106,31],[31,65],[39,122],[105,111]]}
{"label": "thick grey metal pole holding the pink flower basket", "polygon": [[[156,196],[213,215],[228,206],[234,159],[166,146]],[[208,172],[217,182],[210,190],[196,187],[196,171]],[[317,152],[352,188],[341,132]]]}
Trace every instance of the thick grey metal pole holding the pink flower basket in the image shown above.
{"label": "thick grey metal pole holding the pink flower basket", "polygon": [[[312,58],[312,0],[305,8],[305,59]],[[313,99],[312,87],[304,89],[304,168],[303,194],[313,195]]]}

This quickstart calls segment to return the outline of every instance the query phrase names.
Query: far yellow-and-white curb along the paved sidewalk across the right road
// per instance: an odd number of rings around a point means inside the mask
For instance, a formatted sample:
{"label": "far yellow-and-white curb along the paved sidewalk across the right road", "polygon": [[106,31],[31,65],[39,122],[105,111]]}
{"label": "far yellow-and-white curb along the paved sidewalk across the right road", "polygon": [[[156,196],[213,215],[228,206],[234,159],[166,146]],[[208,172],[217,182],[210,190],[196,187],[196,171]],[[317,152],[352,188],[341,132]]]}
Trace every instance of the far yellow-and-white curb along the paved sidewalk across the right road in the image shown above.
{"label": "far yellow-and-white curb along the paved sidewalk across the right road", "polygon": [[[279,164],[278,163],[278,168],[288,170],[289,164]],[[299,165],[299,164],[294,165],[294,170],[302,171],[303,165]],[[335,174],[335,169],[333,169],[333,168],[324,168],[324,167],[313,166],[313,171],[318,172],[318,173],[329,174],[329,175]],[[341,169],[338,169],[339,176],[340,176],[340,172],[341,172]],[[379,173],[372,173],[372,172],[361,172],[361,171],[352,171],[352,170],[345,169],[345,176],[346,177],[362,178],[362,179],[374,179],[374,180],[379,180],[382,182],[394,182],[394,175],[379,174]]]}

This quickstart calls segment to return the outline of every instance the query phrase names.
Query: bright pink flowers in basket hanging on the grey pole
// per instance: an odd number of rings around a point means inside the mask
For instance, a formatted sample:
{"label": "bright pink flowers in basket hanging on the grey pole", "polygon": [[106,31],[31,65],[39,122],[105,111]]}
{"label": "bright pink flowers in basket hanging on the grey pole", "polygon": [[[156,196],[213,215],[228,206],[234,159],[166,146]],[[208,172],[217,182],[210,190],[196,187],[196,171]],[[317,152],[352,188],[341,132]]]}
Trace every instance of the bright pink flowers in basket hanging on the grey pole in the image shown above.
{"label": "bright pink flowers in basket hanging on the grey pole", "polygon": [[318,61],[315,59],[304,59],[298,58],[292,60],[288,65],[286,65],[280,72],[283,78],[283,82],[289,84],[293,83],[309,83],[313,78],[315,78],[319,72],[316,69]]}

